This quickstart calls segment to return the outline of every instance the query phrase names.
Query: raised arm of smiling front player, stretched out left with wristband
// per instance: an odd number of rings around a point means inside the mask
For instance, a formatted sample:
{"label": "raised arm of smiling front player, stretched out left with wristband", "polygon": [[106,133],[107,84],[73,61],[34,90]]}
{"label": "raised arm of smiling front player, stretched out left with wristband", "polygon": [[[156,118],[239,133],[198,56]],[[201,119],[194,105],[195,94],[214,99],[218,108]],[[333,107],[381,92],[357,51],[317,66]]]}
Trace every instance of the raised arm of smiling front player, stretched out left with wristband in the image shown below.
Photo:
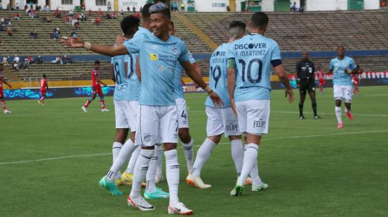
{"label": "raised arm of smiling front player, stretched out left with wristband", "polygon": [[85,42],[82,39],[73,37],[63,37],[62,44],[71,48],[85,48],[97,54],[103,54],[107,56],[119,56],[128,54],[126,46],[124,46],[123,44],[119,46],[90,44],[90,42]]}

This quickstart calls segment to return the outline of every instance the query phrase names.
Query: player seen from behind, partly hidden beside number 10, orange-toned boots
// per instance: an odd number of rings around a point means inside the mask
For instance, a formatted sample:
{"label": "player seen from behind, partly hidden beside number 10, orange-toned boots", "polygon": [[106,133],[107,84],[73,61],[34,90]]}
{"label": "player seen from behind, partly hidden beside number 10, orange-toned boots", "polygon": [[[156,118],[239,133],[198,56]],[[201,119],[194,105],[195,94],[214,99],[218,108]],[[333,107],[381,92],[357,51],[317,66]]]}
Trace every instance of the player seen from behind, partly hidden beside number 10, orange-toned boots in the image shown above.
{"label": "player seen from behind, partly hidden beside number 10, orange-toned boots", "polygon": [[[231,109],[227,87],[227,61],[228,46],[237,39],[245,35],[245,23],[233,21],[229,25],[229,42],[220,45],[210,58],[210,81],[209,85],[219,94],[224,101],[222,108],[214,106],[212,101],[207,98],[205,102],[207,115],[207,138],[198,149],[193,172],[188,175],[186,182],[198,188],[209,188],[212,185],[204,184],[200,178],[202,167],[205,165],[214,147],[221,140],[222,134],[229,137],[231,141],[231,156],[234,159],[237,175],[241,173],[243,166],[243,142],[241,132],[238,131],[237,117]],[[257,176],[258,178],[258,176]]]}

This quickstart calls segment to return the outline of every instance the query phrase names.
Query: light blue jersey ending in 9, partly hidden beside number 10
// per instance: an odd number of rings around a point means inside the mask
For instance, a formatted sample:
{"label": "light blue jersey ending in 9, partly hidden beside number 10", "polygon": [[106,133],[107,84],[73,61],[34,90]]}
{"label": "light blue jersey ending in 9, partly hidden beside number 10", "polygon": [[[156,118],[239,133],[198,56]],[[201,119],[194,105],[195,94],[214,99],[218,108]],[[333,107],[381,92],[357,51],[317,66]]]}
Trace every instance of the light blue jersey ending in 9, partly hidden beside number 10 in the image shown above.
{"label": "light blue jersey ending in 9, partly hidden beside number 10", "polygon": [[[228,51],[229,44],[224,43],[210,57],[209,85],[224,101],[222,108],[231,106],[228,92]],[[215,107],[210,97],[207,97],[205,106]]]}

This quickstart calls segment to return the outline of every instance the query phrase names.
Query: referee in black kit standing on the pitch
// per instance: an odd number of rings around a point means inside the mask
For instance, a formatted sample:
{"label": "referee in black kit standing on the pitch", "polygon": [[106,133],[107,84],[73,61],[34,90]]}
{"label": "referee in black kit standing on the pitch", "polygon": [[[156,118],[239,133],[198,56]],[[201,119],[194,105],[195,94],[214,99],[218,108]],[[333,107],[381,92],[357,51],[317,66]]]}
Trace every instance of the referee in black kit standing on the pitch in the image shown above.
{"label": "referee in black kit standing on the pitch", "polygon": [[303,104],[306,92],[310,95],[313,106],[314,119],[320,119],[317,115],[317,102],[315,101],[315,77],[314,63],[308,59],[308,51],[302,51],[302,60],[296,63],[296,78],[301,99],[299,101],[299,120],[305,119],[303,116]]}

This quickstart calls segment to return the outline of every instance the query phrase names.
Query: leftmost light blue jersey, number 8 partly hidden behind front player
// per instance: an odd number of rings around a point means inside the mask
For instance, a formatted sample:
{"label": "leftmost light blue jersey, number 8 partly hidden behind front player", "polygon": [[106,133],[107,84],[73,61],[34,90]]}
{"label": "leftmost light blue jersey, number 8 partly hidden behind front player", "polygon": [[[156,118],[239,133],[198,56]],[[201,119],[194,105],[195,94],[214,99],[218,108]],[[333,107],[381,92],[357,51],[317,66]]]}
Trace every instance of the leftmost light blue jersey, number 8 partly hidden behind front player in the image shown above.
{"label": "leftmost light blue jersey, number 8 partly hidden behind front player", "polygon": [[114,68],[114,77],[116,86],[114,87],[114,100],[126,100],[127,95],[127,73],[124,68],[124,60],[128,55],[114,56],[111,58],[111,64]]}

